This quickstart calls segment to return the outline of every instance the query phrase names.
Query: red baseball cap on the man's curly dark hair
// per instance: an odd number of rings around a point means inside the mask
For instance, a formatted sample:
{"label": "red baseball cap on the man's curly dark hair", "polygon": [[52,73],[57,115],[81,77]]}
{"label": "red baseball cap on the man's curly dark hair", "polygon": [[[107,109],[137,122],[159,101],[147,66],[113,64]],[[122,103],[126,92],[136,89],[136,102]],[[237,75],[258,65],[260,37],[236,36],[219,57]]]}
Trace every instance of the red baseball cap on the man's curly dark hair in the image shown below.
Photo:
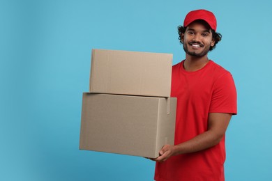
{"label": "red baseball cap on the man's curly dark hair", "polygon": [[209,10],[192,10],[190,11],[183,22],[183,26],[186,27],[188,26],[191,22],[197,20],[197,19],[202,19],[205,22],[207,22],[210,26],[211,29],[216,31],[216,16],[211,13]]}

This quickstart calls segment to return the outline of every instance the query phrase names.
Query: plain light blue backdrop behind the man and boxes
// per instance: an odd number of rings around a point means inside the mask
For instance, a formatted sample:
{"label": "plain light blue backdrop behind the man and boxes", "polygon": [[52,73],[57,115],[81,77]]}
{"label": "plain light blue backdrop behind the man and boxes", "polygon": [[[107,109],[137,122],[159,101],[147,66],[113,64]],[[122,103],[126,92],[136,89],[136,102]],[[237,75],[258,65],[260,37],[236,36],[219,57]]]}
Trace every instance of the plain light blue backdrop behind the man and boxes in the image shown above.
{"label": "plain light blue backdrop behind the man and boxes", "polygon": [[263,1],[0,1],[0,180],[152,180],[142,157],[79,150],[91,49],[174,54],[190,10],[218,19],[209,58],[232,72],[227,181],[272,180],[271,11]]}

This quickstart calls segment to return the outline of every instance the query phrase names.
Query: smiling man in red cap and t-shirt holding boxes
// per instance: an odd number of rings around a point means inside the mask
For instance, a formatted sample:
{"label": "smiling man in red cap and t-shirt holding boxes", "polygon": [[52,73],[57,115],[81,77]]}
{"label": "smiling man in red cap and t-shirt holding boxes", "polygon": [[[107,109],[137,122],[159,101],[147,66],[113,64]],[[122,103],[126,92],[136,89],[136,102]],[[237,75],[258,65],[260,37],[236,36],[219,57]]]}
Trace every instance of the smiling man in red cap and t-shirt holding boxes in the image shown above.
{"label": "smiling man in red cap and t-shirt holding boxes", "polygon": [[155,180],[225,180],[225,132],[236,114],[236,88],[232,74],[207,55],[221,40],[216,25],[210,11],[193,10],[179,26],[186,59],[172,68],[175,143],[154,159]]}

